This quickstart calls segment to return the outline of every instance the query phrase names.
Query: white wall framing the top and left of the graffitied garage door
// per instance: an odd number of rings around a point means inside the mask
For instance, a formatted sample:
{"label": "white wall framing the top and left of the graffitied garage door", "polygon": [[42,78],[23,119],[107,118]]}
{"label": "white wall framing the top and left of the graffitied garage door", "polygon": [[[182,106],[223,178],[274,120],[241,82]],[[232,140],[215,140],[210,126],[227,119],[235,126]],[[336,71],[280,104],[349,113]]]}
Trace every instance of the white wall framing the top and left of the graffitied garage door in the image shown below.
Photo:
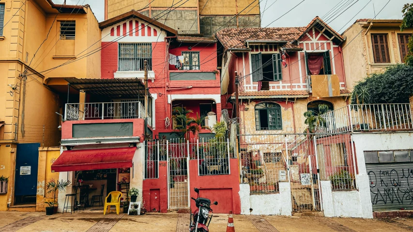
{"label": "white wall framing the top and left of the graffitied garage door", "polygon": [[413,133],[353,133],[352,135],[357,160],[362,217],[372,218],[373,208],[370,198],[370,182],[366,170],[364,151],[409,150],[413,149]]}

